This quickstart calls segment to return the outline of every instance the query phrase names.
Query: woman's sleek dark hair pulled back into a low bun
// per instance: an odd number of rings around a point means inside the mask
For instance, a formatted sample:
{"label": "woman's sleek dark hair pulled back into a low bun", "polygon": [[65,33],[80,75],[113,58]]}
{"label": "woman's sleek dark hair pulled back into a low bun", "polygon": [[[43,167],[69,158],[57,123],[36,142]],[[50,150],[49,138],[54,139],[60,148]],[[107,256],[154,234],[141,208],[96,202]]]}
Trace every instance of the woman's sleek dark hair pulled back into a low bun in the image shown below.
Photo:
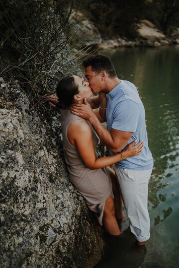
{"label": "woman's sleek dark hair pulled back into a low bun", "polygon": [[59,102],[56,103],[56,107],[66,109],[72,105],[74,96],[79,92],[78,85],[76,85],[73,75],[63,78],[56,88],[57,97],[59,98]]}

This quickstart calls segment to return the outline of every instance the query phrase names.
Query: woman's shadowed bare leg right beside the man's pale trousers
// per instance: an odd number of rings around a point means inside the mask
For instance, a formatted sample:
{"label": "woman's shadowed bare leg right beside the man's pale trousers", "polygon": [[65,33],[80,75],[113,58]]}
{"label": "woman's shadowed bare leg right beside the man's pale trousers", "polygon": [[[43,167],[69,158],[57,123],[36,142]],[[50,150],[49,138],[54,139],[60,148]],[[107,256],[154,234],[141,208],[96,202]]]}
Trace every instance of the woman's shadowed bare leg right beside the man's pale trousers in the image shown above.
{"label": "woman's shadowed bare leg right beside the man's pale trousers", "polygon": [[116,180],[115,172],[111,168],[109,168],[109,172],[110,172],[110,178],[112,181],[112,190],[114,194],[115,215],[117,219],[123,219],[125,215],[122,209],[121,191]]}

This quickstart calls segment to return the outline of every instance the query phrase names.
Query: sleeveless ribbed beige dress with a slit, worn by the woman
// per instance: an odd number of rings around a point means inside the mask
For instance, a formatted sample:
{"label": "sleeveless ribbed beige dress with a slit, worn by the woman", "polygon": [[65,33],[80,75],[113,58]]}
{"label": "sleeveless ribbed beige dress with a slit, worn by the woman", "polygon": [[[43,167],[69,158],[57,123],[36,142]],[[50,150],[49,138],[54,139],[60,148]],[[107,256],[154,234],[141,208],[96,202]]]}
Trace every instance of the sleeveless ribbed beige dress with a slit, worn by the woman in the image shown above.
{"label": "sleeveless ribbed beige dress with a slit, worn by the woman", "polygon": [[68,109],[61,110],[64,156],[69,172],[69,178],[73,185],[84,197],[89,209],[95,212],[99,224],[102,225],[105,201],[109,196],[113,198],[109,170],[108,168],[100,168],[95,170],[89,169],[81,159],[76,146],[73,146],[69,142],[67,130],[69,125],[75,120],[86,121],[89,124],[92,132],[94,147],[96,147],[98,144],[98,137],[89,121],[73,115]]}

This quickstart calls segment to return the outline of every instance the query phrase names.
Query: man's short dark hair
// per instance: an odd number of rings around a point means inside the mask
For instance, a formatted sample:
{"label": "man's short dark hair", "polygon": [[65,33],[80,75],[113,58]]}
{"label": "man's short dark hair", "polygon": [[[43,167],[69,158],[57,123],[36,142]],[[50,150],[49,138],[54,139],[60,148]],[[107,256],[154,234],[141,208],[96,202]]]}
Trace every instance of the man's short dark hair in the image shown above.
{"label": "man's short dark hair", "polygon": [[85,68],[91,66],[91,70],[97,74],[100,71],[105,71],[106,73],[108,73],[110,78],[114,78],[117,76],[110,58],[102,54],[90,56],[87,60],[83,62],[83,66]]}

